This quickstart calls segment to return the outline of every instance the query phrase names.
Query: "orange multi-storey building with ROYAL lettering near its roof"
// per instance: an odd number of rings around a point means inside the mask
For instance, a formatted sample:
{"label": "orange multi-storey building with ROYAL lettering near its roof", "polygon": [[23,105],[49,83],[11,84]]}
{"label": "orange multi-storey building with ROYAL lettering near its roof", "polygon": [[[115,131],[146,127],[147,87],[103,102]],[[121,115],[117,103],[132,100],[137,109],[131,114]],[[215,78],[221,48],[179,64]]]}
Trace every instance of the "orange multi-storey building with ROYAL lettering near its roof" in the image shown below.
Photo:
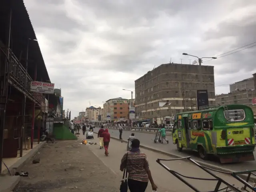
{"label": "orange multi-storey building with ROYAL lettering near its roof", "polygon": [[104,103],[104,117],[106,120],[107,113],[110,113],[111,120],[125,121],[129,119],[129,104],[131,100],[124,98],[109,99]]}

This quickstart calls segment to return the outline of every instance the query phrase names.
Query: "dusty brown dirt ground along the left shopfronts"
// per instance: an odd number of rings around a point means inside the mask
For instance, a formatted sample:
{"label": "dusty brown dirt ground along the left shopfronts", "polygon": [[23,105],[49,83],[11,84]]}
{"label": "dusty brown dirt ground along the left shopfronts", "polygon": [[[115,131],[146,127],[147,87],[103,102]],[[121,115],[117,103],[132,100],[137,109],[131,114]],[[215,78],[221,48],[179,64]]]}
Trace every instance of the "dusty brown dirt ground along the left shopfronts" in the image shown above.
{"label": "dusty brown dirt ground along the left shopfronts", "polygon": [[23,167],[29,177],[22,177],[14,192],[119,191],[120,178],[80,140],[46,144],[36,158],[40,163],[31,160]]}

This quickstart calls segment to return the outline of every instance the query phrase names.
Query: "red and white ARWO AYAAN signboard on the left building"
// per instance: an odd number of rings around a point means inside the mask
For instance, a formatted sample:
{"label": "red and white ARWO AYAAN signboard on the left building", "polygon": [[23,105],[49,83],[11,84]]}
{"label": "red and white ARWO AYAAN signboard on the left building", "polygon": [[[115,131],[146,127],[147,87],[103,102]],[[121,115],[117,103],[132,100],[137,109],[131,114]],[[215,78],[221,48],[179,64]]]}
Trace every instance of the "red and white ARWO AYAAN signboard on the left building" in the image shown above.
{"label": "red and white ARWO AYAAN signboard on the left building", "polygon": [[32,81],[30,91],[36,93],[54,94],[54,83]]}

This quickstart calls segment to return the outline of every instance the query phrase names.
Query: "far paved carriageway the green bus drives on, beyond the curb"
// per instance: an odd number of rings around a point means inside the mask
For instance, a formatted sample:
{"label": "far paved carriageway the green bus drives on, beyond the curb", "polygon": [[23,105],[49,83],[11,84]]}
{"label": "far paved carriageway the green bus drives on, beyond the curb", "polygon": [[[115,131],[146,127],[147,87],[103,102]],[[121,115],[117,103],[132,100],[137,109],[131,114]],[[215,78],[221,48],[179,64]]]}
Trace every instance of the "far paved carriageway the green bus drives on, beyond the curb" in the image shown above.
{"label": "far paved carriageway the green bus drives on, beyond the curb", "polygon": [[[94,130],[98,132],[99,128],[95,128]],[[111,136],[119,138],[119,130],[109,129],[109,132]],[[132,131],[123,131],[122,139],[124,140],[128,139],[128,137],[131,134],[132,134]],[[176,145],[172,144],[172,136],[166,136],[166,138],[170,141],[169,144],[167,144],[166,142],[164,144],[154,143],[152,140],[154,136],[155,136],[154,134],[148,134],[146,132],[135,132],[135,137],[140,140],[140,143],[142,145],[146,145],[146,146],[149,146],[158,150],[162,150],[165,152],[169,152],[172,154],[178,154],[181,156],[192,156],[194,160],[201,160],[198,157],[198,154],[194,151],[183,149],[182,152],[178,152],[176,149]],[[254,157],[256,157],[256,152],[254,152]],[[221,166],[223,168],[227,168],[235,171],[252,170],[256,168],[256,161],[248,161],[248,162],[242,162],[237,164],[220,164],[218,162],[218,159],[214,158],[207,162],[214,164],[216,166]]]}

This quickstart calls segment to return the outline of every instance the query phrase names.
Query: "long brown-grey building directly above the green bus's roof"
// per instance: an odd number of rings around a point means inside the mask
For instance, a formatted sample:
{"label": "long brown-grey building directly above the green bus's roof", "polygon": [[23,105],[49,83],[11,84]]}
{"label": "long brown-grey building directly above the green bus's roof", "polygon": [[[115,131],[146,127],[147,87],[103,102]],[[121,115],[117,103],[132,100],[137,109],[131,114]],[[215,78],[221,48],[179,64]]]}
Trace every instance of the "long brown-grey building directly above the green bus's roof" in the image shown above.
{"label": "long brown-grey building directly above the green bus's roof", "polygon": [[252,107],[252,98],[255,97],[254,90],[242,90],[228,94],[216,95],[217,105],[242,104]]}

